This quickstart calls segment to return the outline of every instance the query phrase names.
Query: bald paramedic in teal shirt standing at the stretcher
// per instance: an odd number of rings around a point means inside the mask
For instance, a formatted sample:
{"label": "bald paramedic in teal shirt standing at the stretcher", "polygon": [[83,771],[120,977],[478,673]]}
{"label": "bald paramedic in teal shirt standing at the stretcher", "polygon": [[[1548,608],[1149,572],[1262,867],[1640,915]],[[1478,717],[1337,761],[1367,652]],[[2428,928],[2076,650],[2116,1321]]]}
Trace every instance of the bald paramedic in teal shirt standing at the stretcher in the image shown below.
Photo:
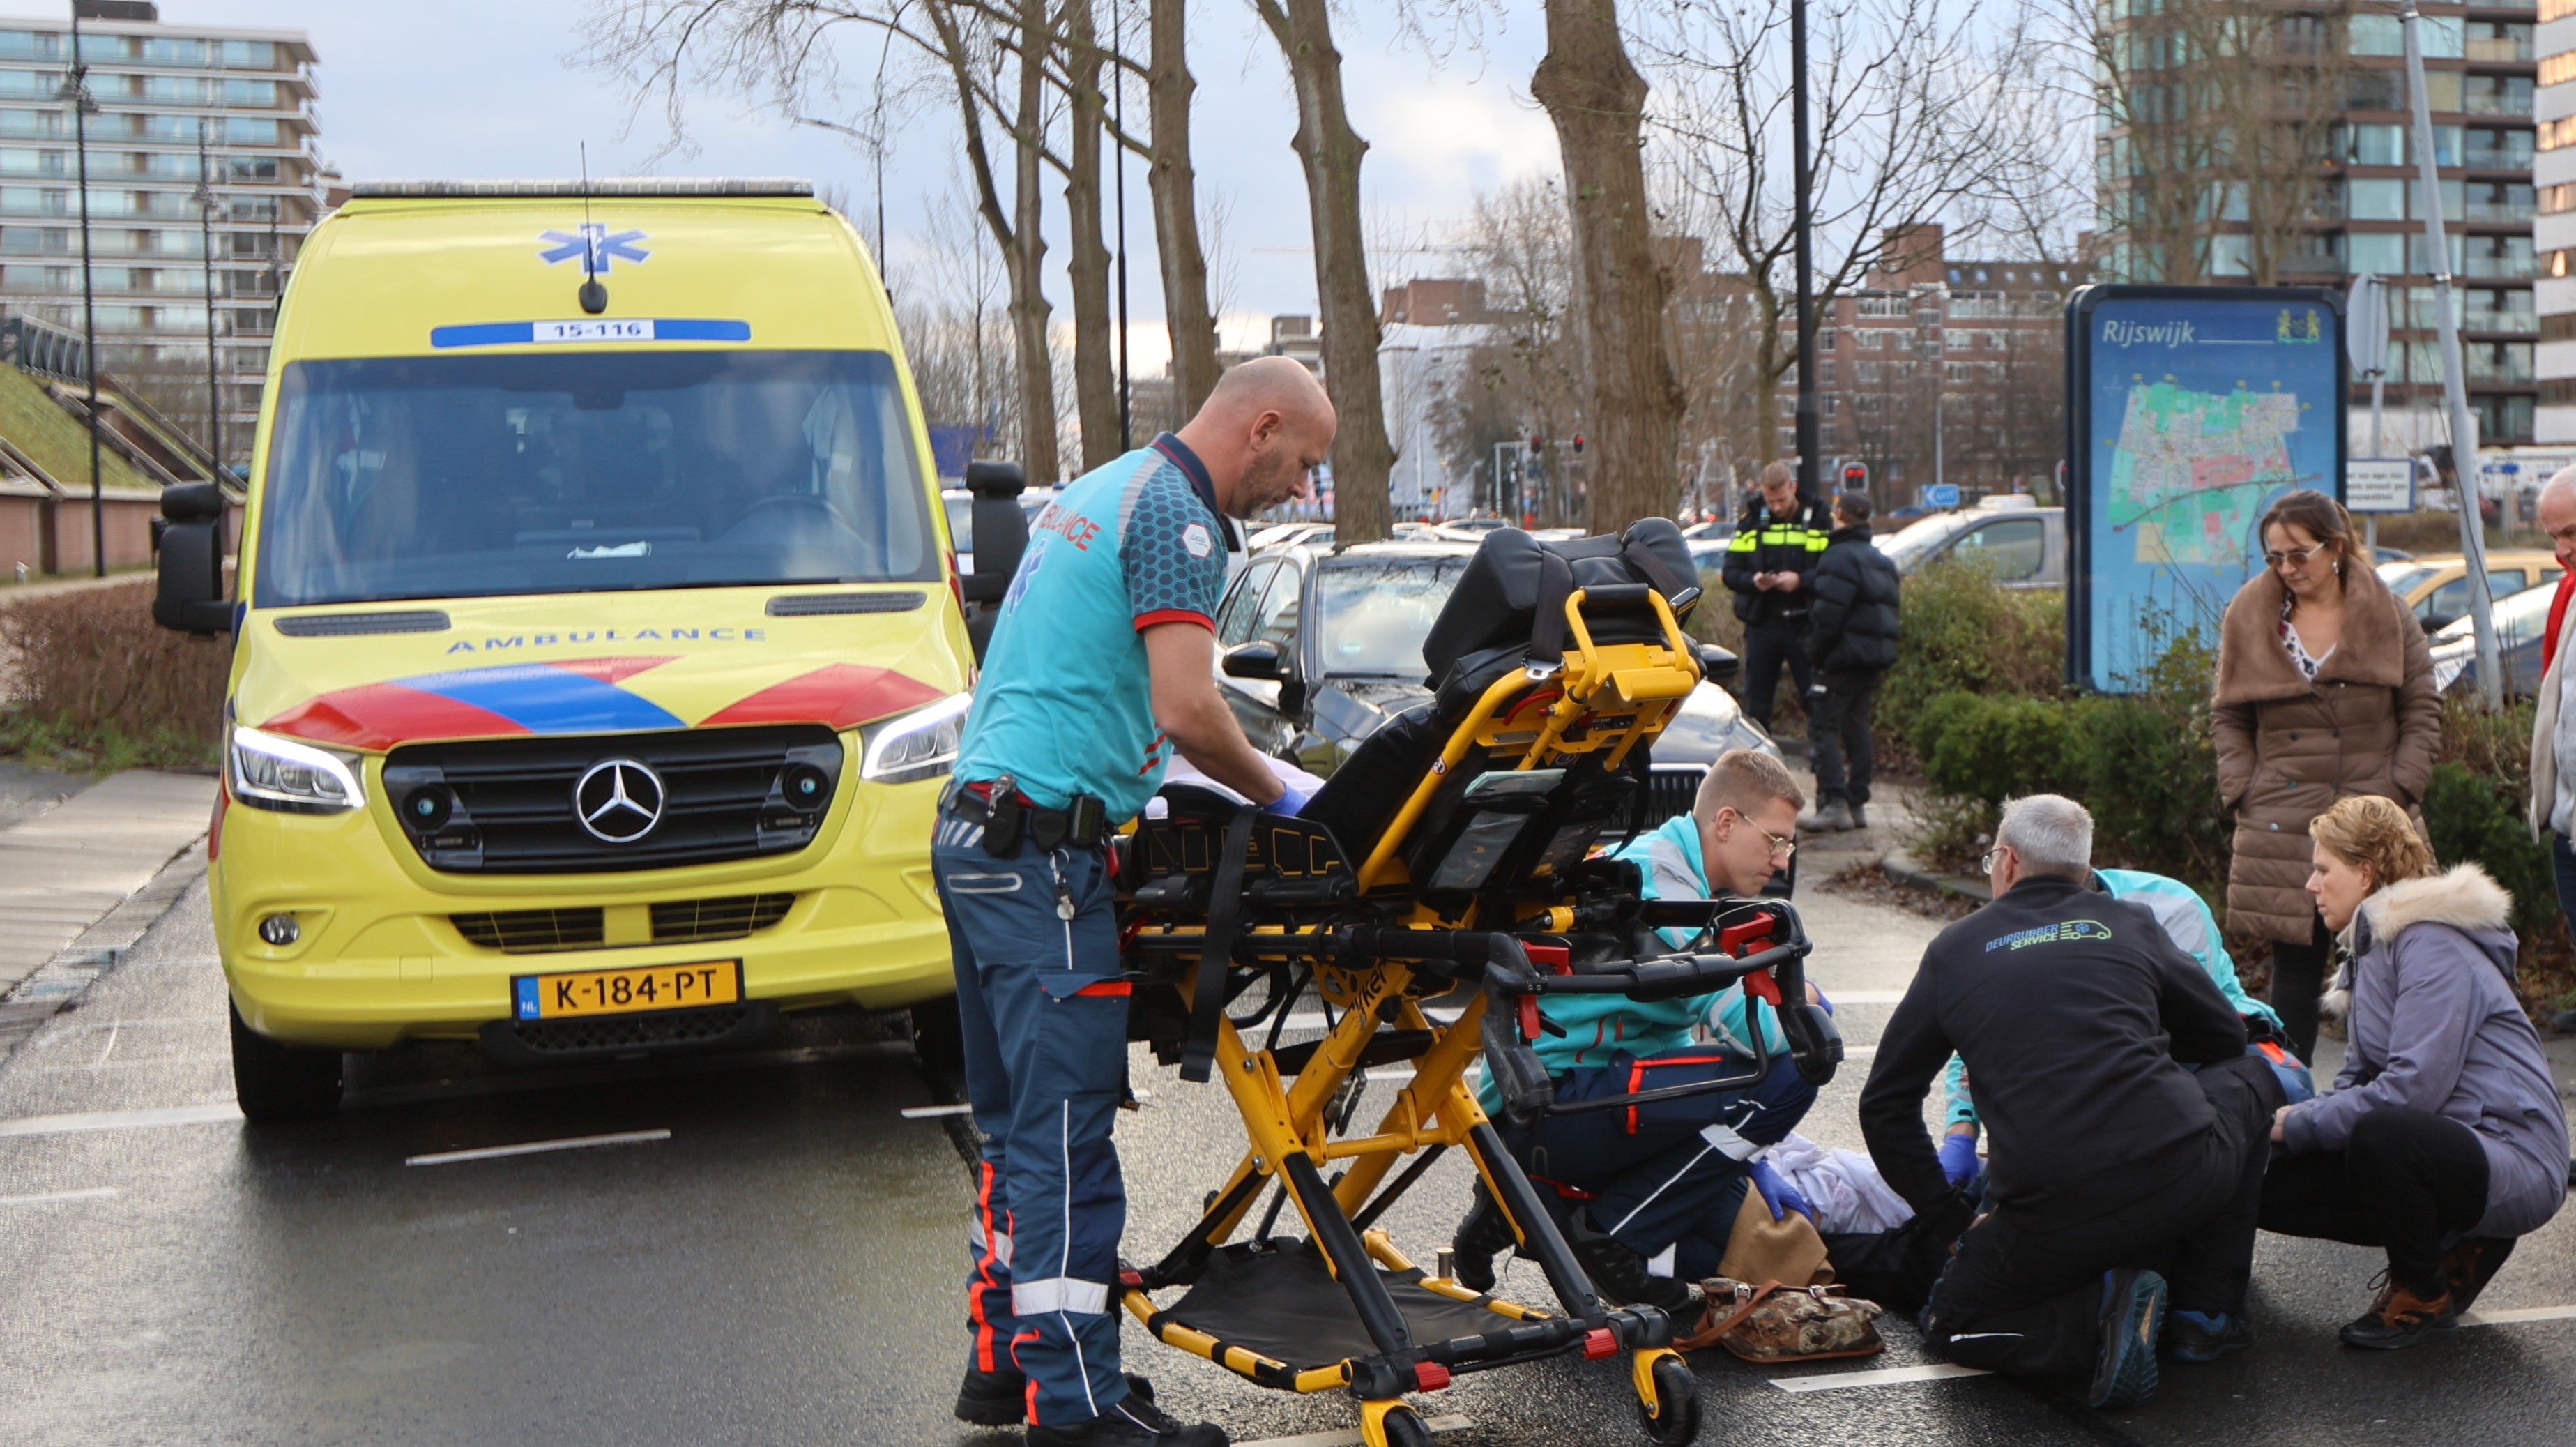
{"label": "bald paramedic in teal shirt standing at the stretcher", "polygon": [[1332,433],[1314,376],[1257,358],[1177,435],[1074,479],[1030,528],[966,716],[930,850],[984,1141],[956,1414],[1028,1421],[1038,1447],[1226,1442],[1118,1367],[1128,986],[1103,845],[1172,749],[1273,811],[1306,803],[1216,690],[1213,615],[1229,518],[1303,497]]}

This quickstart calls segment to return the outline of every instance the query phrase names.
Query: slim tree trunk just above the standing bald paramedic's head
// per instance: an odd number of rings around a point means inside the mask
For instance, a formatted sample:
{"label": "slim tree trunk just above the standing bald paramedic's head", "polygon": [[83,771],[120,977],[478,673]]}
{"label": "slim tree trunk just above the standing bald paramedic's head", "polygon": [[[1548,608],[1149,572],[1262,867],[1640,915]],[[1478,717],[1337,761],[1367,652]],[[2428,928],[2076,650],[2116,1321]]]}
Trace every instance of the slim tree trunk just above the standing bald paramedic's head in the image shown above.
{"label": "slim tree trunk just above the standing bald paramedic's head", "polygon": [[1378,389],[1378,299],[1368,291],[1360,237],[1360,157],[1368,142],[1342,108],[1342,51],[1332,49],[1327,0],[1255,0],[1288,57],[1296,88],[1296,154],[1306,167],[1314,232],[1314,291],[1324,322],[1324,391],[1340,415],[1332,438],[1332,507],[1340,541],[1383,538],[1386,479],[1396,448],[1386,440]]}

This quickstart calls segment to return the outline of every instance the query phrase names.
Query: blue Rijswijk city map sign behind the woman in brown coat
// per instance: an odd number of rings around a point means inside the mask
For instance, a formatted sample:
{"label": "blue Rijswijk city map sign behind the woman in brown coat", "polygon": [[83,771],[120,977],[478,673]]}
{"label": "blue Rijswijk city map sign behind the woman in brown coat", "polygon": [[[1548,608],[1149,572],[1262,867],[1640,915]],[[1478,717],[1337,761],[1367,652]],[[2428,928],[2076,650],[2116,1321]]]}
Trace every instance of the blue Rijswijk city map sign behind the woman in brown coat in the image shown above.
{"label": "blue Rijswijk city map sign behind the woman in brown coat", "polygon": [[2177,631],[2213,646],[2282,492],[2344,494],[2344,299],[2087,286],[2066,301],[2066,677],[2125,693]]}

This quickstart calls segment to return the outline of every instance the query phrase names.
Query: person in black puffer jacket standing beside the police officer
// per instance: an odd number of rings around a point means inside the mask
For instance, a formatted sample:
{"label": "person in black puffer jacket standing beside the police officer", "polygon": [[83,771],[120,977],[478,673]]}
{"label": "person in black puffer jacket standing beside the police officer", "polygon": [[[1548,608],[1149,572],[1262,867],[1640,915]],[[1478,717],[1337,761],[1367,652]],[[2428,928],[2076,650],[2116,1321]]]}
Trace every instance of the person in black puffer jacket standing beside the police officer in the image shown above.
{"label": "person in black puffer jacket standing beside the police officer", "polygon": [[1870,494],[1837,494],[1834,533],[1808,584],[1806,657],[1819,677],[1806,695],[1816,765],[1816,814],[1798,821],[1806,832],[1870,826],[1870,708],[1896,667],[1896,559],[1870,543]]}

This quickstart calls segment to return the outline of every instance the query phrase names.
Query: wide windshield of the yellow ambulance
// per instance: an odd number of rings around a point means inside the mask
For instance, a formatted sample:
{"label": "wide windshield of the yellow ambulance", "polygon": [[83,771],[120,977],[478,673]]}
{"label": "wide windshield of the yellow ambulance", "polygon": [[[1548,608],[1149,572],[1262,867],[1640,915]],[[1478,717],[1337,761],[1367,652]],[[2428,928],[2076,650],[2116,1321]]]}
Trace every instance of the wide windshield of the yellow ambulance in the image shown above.
{"label": "wide windshield of the yellow ambulance", "polygon": [[935,582],[886,353],[286,368],[255,602]]}

